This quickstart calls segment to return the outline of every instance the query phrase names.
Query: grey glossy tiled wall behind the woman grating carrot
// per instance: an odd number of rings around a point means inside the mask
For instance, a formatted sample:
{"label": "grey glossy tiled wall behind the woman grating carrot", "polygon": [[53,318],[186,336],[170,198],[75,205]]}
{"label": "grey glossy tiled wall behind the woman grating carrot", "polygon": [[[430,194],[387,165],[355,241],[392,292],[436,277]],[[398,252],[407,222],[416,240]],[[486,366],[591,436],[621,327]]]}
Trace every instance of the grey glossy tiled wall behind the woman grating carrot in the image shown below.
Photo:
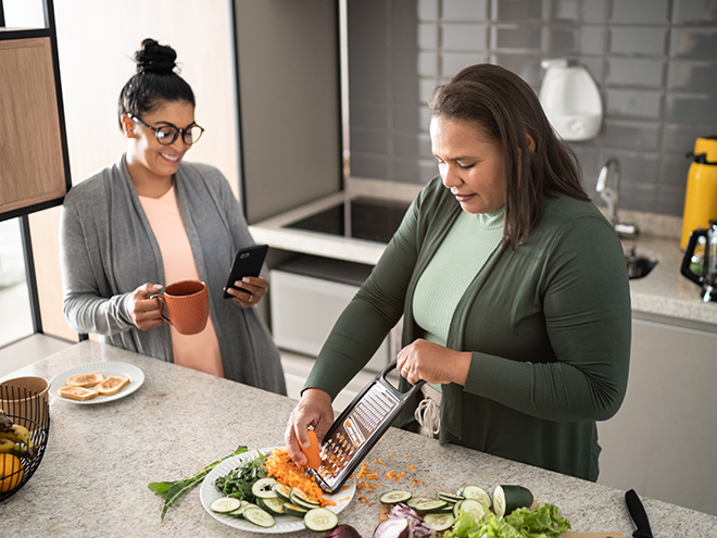
{"label": "grey glossy tiled wall behind the woman grating carrot", "polygon": [[425,102],[490,62],[538,92],[541,61],[584,65],[605,111],[570,142],[598,204],[598,172],[622,170],[620,208],[682,215],[700,136],[717,135],[717,0],[348,0],[351,175],[425,184],[437,173]]}

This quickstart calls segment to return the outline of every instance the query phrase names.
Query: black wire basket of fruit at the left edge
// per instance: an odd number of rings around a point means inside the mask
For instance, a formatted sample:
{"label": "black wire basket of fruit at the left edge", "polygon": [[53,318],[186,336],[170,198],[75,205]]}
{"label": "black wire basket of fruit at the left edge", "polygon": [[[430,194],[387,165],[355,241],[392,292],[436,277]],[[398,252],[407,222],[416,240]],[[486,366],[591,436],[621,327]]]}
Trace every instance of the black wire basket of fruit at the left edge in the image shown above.
{"label": "black wire basket of fruit at the left edge", "polygon": [[2,502],[27,484],[42,461],[50,431],[50,405],[46,395],[40,397],[26,387],[5,384],[0,387],[0,409]]}

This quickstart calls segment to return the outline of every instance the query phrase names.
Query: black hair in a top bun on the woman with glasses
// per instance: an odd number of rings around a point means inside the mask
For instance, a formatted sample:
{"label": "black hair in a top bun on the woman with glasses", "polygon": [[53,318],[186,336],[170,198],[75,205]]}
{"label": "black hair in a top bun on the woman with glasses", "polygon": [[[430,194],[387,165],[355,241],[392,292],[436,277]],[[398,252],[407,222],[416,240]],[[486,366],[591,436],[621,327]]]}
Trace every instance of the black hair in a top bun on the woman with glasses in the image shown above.
{"label": "black hair in a top bun on the woman with glasses", "polygon": [[144,39],[141,50],[135,52],[137,73],[133,75],[120,92],[117,114],[120,128],[122,115],[131,114],[140,117],[164,103],[187,101],[194,103],[194,92],[187,82],[179,76],[175,63],[177,53],[172,47],[158,43],[154,39]]}

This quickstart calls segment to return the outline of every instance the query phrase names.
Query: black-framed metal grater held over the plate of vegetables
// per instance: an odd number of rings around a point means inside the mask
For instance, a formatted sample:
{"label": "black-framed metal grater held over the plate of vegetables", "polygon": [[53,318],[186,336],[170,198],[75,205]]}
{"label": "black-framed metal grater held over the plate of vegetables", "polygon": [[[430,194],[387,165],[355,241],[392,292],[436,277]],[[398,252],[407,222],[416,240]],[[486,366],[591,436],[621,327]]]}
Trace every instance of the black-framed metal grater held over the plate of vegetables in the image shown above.
{"label": "black-framed metal grater held over the plate of vegetables", "polygon": [[374,448],[424,381],[401,392],[386,378],[394,370],[392,361],[347,405],[334,421],[322,445],[322,464],[309,472],[326,493],[336,493]]}

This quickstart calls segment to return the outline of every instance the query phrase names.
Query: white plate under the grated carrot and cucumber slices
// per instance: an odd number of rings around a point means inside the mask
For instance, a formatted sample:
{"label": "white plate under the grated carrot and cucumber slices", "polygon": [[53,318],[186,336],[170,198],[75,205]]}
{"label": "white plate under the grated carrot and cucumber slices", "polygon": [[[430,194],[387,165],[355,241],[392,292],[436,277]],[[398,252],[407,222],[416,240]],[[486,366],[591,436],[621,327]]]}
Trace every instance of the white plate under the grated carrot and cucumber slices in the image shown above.
{"label": "white plate under the grated carrot and cucumber slices", "polygon": [[[282,447],[274,447],[274,448],[282,448]],[[226,525],[229,525],[230,527],[240,528],[242,530],[249,530],[251,533],[264,533],[264,534],[276,535],[276,534],[293,533],[295,530],[305,529],[306,526],[304,525],[303,520],[298,520],[297,517],[292,517],[290,515],[272,514],[274,515],[276,525],[274,525],[273,527],[265,528],[265,527],[260,527],[259,525],[254,525],[253,523],[250,523],[247,520],[241,520],[232,515],[217,514],[216,512],[213,512],[212,509],[210,508],[210,504],[212,504],[212,502],[223,497],[223,495],[214,487],[214,480],[216,480],[221,476],[229,474],[230,471],[237,468],[242,462],[247,460],[256,459],[260,452],[262,454],[268,454],[272,450],[274,450],[274,448],[250,450],[241,454],[232,455],[231,458],[224,460],[216,467],[210,471],[210,474],[204,477],[204,480],[202,481],[202,486],[199,490],[199,498],[202,501],[202,505],[204,506],[204,510],[206,510],[212,517],[221,521]],[[349,505],[355,492],[356,492],[355,480],[352,480],[351,483],[347,483],[347,486],[344,486],[344,488],[342,488],[338,493],[325,496],[327,499],[330,499],[334,502],[336,502],[335,506],[326,506],[326,508],[331,512],[338,514]]]}

